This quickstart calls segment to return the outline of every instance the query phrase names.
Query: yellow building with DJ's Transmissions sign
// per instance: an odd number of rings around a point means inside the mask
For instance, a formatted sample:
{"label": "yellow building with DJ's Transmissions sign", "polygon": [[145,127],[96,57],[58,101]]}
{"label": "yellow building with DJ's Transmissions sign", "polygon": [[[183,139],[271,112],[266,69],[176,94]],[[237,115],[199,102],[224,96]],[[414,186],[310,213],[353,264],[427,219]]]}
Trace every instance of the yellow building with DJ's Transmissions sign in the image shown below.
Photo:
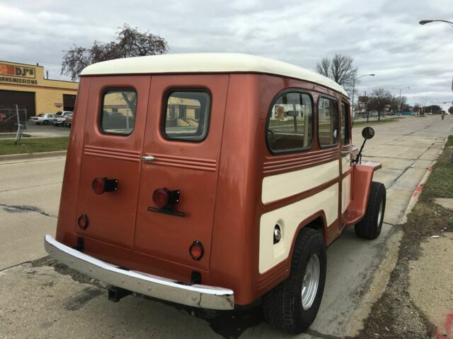
{"label": "yellow building with DJ's Transmissions sign", "polygon": [[74,110],[79,83],[50,80],[44,67],[0,61],[0,110],[26,109],[27,117]]}

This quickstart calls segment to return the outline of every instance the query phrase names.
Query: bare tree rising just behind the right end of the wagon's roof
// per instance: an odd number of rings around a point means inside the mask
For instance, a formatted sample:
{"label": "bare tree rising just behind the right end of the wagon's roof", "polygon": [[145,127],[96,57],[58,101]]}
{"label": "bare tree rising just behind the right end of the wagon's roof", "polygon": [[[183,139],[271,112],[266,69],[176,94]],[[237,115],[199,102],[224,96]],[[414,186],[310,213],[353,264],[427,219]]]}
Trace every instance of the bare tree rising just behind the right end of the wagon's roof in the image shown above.
{"label": "bare tree rising just behind the right end of the wagon's roof", "polygon": [[333,59],[323,58],[316,64],[316,71],[343,86],[352,86],[357,77],[354,59],[343,54],[335,54]]}

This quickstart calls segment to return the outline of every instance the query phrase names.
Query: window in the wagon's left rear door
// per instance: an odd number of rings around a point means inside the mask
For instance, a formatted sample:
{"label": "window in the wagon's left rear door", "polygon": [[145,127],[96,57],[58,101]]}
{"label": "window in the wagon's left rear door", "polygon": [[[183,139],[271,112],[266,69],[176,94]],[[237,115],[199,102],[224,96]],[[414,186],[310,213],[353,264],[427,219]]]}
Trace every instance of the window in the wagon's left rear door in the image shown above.
{"label": "window in the wagon's left rear door", "polygon": [[99,127],[104,133],[128,136],[134,130],[137,93],[134,90],[104,92]]}

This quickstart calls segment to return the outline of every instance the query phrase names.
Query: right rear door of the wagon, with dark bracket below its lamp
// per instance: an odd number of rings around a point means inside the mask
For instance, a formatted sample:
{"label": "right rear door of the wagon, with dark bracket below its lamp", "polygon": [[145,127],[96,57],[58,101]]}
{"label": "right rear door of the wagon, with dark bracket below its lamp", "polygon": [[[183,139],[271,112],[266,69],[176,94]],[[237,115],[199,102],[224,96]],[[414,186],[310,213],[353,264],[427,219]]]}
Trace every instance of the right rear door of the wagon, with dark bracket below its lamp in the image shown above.
{"label": "right rear door of the wagon, with dark bracket below its lamp", "polygon": [[[209,267],[228,81],[225,74],[152,76],[134,249]],[[159,208],[158,189],[179,191],[178,202]],[[200,261],[189,254],[193,242],[204,249]]]}

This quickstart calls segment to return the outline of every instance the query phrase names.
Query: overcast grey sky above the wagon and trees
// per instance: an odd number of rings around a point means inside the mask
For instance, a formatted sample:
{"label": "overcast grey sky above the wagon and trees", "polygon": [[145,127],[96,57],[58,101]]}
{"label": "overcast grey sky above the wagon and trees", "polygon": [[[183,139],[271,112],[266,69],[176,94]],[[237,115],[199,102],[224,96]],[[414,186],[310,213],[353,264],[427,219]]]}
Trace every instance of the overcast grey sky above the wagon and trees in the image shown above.
{"label": "overcast grey sky above the wagon and trees", "polygon": [[403,88],[411,104],[453,101],[453,27],[418,24],[453,21],[453,0],[0,0],[0,13],[0,60],[39,62],[50,78],[64,78],[64,49],[113,40],[128,23],[164,37],[170,53],[241,52],[306,69],[347,54],[359,75],[376,73],[356,85],[360,95]]}

